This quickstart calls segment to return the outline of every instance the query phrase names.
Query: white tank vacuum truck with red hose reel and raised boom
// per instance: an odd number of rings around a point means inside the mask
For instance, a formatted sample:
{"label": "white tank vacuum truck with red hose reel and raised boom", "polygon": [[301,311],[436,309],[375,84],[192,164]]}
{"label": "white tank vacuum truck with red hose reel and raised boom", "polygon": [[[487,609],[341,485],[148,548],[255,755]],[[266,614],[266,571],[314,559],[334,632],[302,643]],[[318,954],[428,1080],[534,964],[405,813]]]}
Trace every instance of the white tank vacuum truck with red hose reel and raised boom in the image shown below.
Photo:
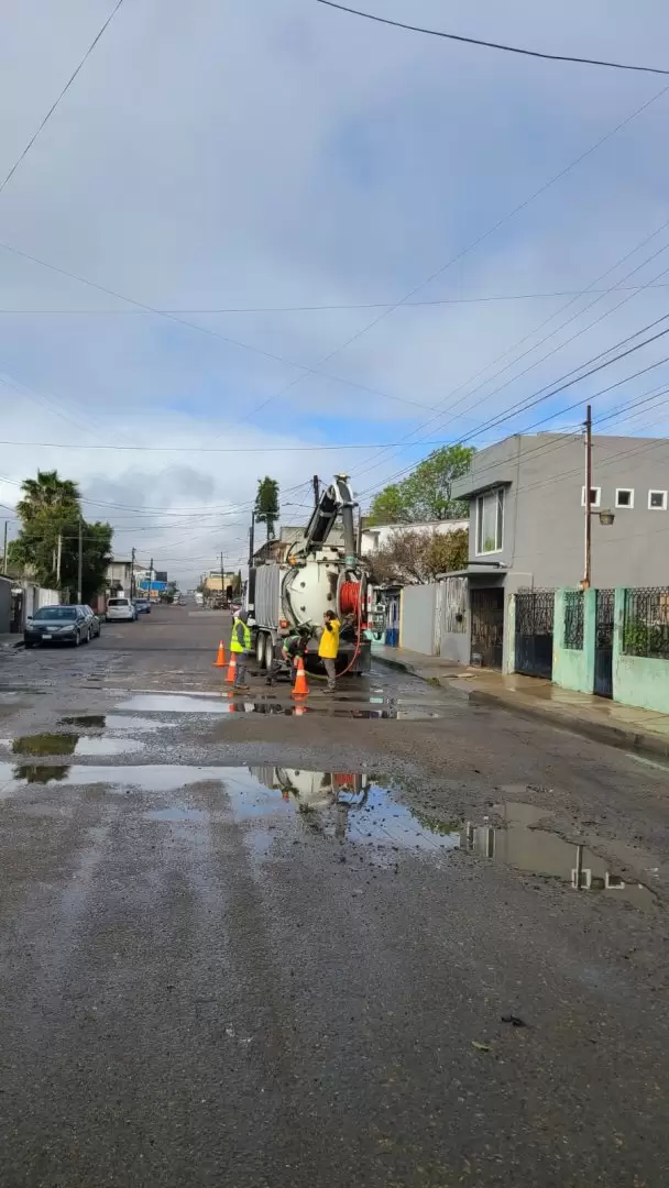
{"label": "white tank vacuum truck with red hose reel and raised boom", "polygon": [[[365,631],[367,574],[358,556],[355,506],[348,476],[337,474],[322,492],[302,533],[251,568],[246,607],[255,627],[255,655],[261,668],[270,666],[277,643],[295,627],[322,627],[326,611],[335,611],[342,624],[339,670],[370,671],[371,651]],[[328,544],[337,517],[341,517],[343,544]],[[308,662],[317,646],[314,638]]]}

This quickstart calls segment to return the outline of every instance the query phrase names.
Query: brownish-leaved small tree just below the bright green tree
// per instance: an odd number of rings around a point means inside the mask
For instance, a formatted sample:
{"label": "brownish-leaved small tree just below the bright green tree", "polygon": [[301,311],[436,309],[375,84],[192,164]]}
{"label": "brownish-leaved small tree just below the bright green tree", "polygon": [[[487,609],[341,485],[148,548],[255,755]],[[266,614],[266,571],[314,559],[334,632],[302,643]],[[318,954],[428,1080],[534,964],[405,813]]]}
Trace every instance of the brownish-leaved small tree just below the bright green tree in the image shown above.
{"label": "brownish-leaved small tree just below the bright green tree", "polygon": [[387,544],[367,557],[377,584],[424,583],[437,574],[463,569],[469,556],[469,532],[416,532],[400,529]]}

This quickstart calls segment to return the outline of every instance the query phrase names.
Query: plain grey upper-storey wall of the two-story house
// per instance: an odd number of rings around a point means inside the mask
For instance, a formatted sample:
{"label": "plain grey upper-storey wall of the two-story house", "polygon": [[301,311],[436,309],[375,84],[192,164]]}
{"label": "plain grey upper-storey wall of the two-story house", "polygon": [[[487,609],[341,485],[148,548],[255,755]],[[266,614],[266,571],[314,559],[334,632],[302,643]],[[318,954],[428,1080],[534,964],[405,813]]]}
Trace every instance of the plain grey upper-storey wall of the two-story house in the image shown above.
{"label": "plain grey upper-storey wall of the two-story house", "polygon": [[[583,576],[583,442],[580,435],[507,437],[474,456],[469,474],[453,487],[469,498],[469,557],[490,557],[519,571],[518,584],[575,587]],[[499,552],[476,554],[476,492],[505,488],[504,539]],[[610,527],[592,518],[592,586],[662,586],[668,579],[669,510],[649,510],[649,491],[669,488],[669,440],[600,437],[593,444],[593,487]],[[633,507],[616,507],[617,488],[633,491]],[[506,587],[507,590],[510,587]],[[517,586],[516,586],[517,588]]]}

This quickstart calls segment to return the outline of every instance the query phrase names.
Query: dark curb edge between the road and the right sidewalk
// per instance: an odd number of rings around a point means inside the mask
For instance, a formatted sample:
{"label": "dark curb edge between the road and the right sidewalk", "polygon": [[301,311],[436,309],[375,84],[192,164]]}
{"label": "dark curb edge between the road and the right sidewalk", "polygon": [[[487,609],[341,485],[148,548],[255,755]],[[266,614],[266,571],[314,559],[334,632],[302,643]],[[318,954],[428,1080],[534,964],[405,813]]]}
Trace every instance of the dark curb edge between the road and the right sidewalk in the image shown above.
{"label": "dark curb edge between the road and the right sidewalk", "polygon": [[[424,670],[415,668],[412,664],[406,664],[403,661],[386,659],[385,656],[374,657],[373,653],[372,658],[378,659],[381,664],[387,664],[389,668],[402,669],[404,672],[410,672],[411,676],[416,676],[421,681],[430,681],[429,676],[424,676]],[[519,718],[528,718],[531,721],[536,721],[538,719],[547,726],[554,726],[560,731],[568,731],[570,734],[578,734],[593,742],[604,742],[606,746],[617,747],[619,751],[636,751],[639,754],[645,753],[652,756],[654,758],[669,758],[669,741],[655,738],[652,734],[644,734],[643,732],[638,733],[636,731],[624,729],[619,726],[610,726],[606,722],[591,722],[587,719],[576,718],[572,714],[562,714],[560,710],[551,710],[547,713],[541,704],[534,706],[528,704],[526,702],[517,701],[516,694],[494,694],[481,689],[467,689],[463,684],[459,684],[456,677],[453,680],[448,677],[440,680],[435,674],[433,680],[438,680],[442,689],[448,693],[453,693],[462,701],[469,702],[471,706],[506,709],[510,714],[516,714]]]}

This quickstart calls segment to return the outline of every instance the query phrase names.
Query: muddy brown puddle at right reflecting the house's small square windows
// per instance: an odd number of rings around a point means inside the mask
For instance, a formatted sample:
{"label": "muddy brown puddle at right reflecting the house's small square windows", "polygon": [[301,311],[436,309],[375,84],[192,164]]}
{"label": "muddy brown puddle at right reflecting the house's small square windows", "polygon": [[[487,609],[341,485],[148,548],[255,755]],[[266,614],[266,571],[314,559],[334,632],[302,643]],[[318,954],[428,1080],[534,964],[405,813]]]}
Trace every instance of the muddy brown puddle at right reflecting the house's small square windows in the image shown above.
{"label": "muddy brown puddle at right reflecting the house's small square windows", "polygon": [[[471,822],[465,826],[462,843],[472,853],[528,874],[558,879],[574,891],[606,892],[637,908],[655,905],[654,892],[643,883],[626,881],[587,846],[564,841],[545,828],[549,809],[507,801],[496,805],[494,813],[504,820],[504,828]],[[537,822],[544,822],[544,827],[537,828]]]}

